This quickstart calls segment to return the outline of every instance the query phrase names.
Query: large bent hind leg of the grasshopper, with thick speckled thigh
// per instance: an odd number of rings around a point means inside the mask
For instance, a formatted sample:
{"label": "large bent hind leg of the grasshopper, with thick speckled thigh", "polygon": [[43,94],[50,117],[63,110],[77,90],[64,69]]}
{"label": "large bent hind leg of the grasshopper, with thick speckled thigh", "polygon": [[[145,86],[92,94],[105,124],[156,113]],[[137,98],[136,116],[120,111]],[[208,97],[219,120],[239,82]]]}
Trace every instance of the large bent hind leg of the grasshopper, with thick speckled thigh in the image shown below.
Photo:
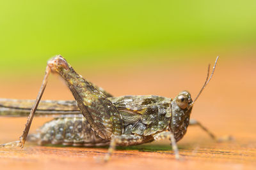
{"label": "large bent hind leg of the grasshopper, with thick speckled thigh", "polygon": [[63,80],[65,80],[68,88],[76,99],[77,106],[100,138],[108,140],[111,139],[112,134],[122,134],[122,117],[115,105],[109,101],[107,97],[108,94],[106,94],[106,96],[102,90],[98,89],[95,85],[86,81],[81,75],[77,74],[67,63],[67,60],[58,55],[47,62],[42,86],[29,114],[25,129],[20,136],[20,141],[15,141],[2,146],[20,146],[23,148],[36,109],[47,85],[48,76],[51,72],[58,73]]}

